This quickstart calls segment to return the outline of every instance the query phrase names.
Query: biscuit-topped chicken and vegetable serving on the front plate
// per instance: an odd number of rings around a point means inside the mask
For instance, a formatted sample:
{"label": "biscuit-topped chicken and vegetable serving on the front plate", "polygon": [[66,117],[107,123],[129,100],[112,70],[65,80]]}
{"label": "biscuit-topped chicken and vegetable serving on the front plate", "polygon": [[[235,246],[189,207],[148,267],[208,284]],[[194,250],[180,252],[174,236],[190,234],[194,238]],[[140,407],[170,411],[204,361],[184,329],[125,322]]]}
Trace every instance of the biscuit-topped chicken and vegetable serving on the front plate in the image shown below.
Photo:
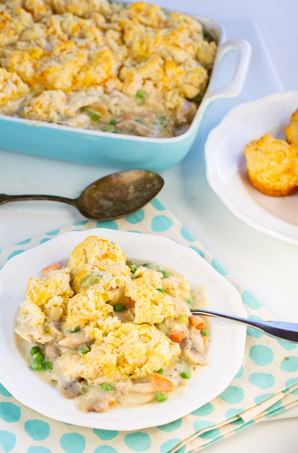
{"label": "biscuit-topped chicken and vegetable serving on the front plate", "polygon": [[190,312],[203,289],[174,271],[127,260],[117,244],[89,236],[67,267],[41,273],[20,304],[17,343],[32,370],[79,410],[162,402],[208,363],[206,324]]}

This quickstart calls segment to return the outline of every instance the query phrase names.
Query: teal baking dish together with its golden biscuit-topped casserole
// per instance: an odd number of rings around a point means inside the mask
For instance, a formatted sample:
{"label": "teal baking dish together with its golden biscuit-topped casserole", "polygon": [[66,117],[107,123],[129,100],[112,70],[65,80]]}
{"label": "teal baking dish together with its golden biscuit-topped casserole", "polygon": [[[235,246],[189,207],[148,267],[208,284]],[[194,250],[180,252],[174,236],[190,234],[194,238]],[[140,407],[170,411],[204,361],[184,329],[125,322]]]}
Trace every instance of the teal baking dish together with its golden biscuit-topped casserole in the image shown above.
{"label": "teal baking dish together with its golden biscuit-topped casserole", "polygon": [[[204,93],[221,27],[145,2],[13,0],[0,9],[2,148],[159,171],[184,157],[216,99]],[[218,48],[209,90],[235,48],[238,87],[234,77],[225,96],[241,89],[250,49],[237,40]]]}

